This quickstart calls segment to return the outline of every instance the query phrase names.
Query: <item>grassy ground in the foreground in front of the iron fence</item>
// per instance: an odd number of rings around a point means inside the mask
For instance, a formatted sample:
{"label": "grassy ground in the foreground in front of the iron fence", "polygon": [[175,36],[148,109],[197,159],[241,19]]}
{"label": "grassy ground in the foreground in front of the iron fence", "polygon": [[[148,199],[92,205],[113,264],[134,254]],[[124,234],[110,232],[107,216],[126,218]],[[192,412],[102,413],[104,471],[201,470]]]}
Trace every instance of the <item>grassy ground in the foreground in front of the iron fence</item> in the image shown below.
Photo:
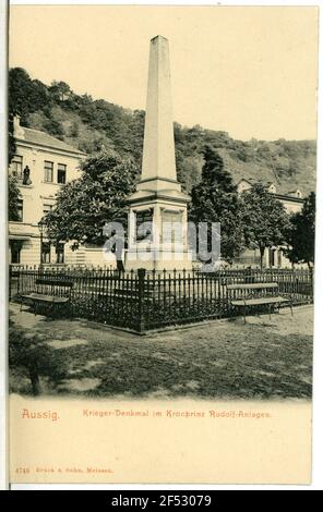
{"label": "grassy ground in the foreground in front of the iron fence", "polygon": [[[311,397],[312,306],[139,337],[81,320],[51,320],[11,304],[12,319],[39,333],[63,361],[46,394],[113,398]],[[52,350],[51,350],[52,352]],[[11,391],[29,393],[20,369]]]}

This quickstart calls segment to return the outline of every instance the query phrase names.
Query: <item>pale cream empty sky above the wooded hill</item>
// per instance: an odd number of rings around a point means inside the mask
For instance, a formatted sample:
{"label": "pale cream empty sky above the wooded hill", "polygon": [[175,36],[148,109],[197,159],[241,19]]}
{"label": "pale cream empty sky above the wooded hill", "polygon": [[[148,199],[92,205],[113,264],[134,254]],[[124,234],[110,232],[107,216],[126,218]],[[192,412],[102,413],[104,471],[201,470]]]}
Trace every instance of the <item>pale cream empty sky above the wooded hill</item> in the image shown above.
{"label": "pale cream empty sky above the wooded hill", "polygon": [[174,119],[234,138],[316,138],[318,9],[13,5],[9,64],[144,109],[149,39],[169,39]]}

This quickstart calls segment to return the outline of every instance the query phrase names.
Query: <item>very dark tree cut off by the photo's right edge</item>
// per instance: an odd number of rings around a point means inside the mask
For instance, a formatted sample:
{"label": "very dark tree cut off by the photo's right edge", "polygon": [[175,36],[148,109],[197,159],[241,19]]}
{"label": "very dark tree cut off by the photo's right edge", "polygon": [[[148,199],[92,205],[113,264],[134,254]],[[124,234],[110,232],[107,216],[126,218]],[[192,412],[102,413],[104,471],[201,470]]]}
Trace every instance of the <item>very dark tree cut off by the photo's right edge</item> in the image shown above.
{"label": "very dark tree cut off by the photo's right edge", "polygon": [[315,254],[315,194],[312,192],[304,200],[301,211],[290,217],[287,243],[291,247],[287,256],[291,263],[306,263],[311,268]]}

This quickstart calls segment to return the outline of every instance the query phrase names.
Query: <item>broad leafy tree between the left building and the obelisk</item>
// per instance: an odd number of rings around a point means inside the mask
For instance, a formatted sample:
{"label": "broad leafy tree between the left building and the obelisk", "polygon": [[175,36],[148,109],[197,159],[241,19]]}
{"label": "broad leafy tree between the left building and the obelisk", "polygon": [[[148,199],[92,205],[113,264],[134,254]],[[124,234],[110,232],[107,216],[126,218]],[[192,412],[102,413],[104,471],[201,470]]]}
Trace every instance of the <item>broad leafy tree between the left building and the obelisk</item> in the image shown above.
{"label": "broad leafy tree between the left building and the obelisk", "polygon": [[67,183],[57,194],[55,208],[45,218],[48,235],[55,241],[73,241],[72,248],[105,242],[106,222],[127,224],[127,196],[133,192],[137,168],[131,160],[101,149],[88,157],[83,175]]}

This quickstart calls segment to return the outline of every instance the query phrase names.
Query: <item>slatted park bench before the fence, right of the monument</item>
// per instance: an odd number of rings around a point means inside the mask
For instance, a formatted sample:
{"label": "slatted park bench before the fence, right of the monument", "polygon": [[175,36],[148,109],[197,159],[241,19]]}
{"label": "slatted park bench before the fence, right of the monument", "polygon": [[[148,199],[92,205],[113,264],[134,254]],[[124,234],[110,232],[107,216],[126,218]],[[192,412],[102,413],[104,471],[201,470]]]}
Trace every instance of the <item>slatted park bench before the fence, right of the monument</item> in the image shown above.
{"label": "slatted park bench before the fence, right of the monument", "polygon": [[243,284],[227,284],[227,292],[229,303],[235,308],[242,308],[246,324],[247,309],[252,307],[260,307],[267,305],[270,309],[270,318],[272,318],[272,307],[278,307],[288,303],[290,313],[292,313],[292,297],[279,295],[277,282],[261,282],[261,283],[243,283]]}

